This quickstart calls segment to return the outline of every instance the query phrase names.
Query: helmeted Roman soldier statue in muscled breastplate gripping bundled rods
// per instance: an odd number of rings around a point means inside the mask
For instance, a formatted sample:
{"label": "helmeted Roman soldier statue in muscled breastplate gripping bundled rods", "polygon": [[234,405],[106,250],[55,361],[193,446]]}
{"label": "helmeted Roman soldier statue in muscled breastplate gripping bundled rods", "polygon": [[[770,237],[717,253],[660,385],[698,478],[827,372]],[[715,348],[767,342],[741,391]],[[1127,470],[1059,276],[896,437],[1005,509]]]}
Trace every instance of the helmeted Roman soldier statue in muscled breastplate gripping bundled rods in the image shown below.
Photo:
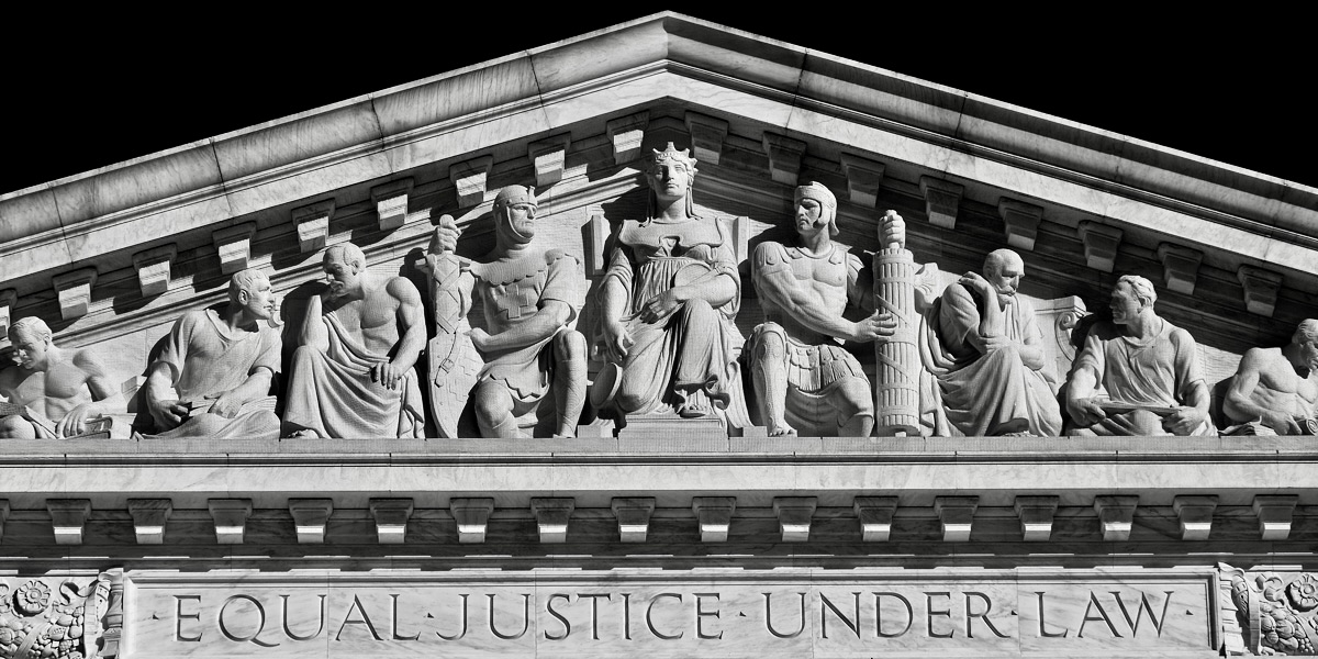
{"label": "helmeted Roman soldier statue in muscled breastplate gripping bundled rods", "polygon": [[[869,269],[837,236],[837,199],[826,187],[796,188],[796,243],[762,243],[753,257],[755,291],[766,323],[751,333],[747,352],[770,435],[869,436],[874,394],[844,340],[873,343],[892,336],[891,314],[859,322],[842,318],[847,303],[874,311]],[[905,241],[905,224],[883,217],[883,243]]]}

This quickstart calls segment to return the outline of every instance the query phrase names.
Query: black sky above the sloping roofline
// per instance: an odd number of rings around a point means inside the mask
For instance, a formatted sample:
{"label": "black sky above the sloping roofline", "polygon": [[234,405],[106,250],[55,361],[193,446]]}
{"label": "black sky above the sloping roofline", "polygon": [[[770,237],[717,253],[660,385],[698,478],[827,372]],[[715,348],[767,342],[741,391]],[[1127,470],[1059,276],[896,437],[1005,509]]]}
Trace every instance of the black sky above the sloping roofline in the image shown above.
{"label": "black sky above the sloping roofline", "polygon": [[662,9],[1318,186],[1318,57],[1297,16],[1157,17],[1145,5],[1006,14],[948,3],[323,5],[293,18],[260,9],[216,5],[195,20],[63,11],[12,21],[0,43],[0,192]]}

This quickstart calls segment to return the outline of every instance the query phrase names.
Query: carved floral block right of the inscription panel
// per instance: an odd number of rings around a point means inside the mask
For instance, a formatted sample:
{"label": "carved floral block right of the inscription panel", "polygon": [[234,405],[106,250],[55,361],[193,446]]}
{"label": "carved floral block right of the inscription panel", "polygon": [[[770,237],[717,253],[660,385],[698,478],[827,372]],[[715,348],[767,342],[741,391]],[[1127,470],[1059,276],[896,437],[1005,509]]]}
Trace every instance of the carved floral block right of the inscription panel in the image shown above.
{"label": "carved floral block right of the inscription panel", "polygon": [[[1219,563],[1223,588],[1230,584],[1234,622],[1243,650],[1259,654],[1318,655],[1318,579],[1307,572],[1246,572]],[[1228,621],[1230,622],[1230,621]],[[1228,633],[1234,629],[1227,625]],[[1231,638],[1227,639],[1228,654]]]}

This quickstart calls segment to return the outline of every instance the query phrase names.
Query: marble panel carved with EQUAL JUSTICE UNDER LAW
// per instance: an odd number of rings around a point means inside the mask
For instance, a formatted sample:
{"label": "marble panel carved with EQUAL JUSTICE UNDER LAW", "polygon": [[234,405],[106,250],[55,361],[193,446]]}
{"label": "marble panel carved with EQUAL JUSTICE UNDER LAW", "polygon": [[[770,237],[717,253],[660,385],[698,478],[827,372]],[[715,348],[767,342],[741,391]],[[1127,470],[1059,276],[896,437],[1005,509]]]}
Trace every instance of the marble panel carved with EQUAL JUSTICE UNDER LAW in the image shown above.
{"label": "marble panel carved with EQUAL JUSTICE UNDER LAW", "polygon": [[137,619],[125,625],[134,656],[526,656],[551,648],[685,656],[760,647],[793,656],[1083,654],[1194,651],[1217,642],[1210,580],[1193,573],[1075,581],[1011,571],[974,580],[803,575],[796,583],[776,575],[668,583],[290,577],[187,587],[140,579]]}

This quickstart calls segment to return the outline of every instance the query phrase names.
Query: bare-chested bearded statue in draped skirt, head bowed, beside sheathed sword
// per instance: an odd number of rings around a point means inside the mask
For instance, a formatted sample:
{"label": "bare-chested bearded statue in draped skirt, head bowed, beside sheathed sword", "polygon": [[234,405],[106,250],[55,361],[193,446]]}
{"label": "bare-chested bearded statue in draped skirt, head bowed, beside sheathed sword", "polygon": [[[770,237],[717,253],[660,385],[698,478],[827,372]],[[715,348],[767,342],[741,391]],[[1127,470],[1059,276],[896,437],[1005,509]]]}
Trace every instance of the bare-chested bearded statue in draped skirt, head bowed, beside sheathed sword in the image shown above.
{"label": "bare-chested bearded statue in draped skirt, head bowed, beside sheathed sword", "polygon": [[420,293],[366,272],[352,244],[326,250],[330,290],[312,297],[293,353],[285,431],[294,436],[420,438],[413,365],[426,347]]}

